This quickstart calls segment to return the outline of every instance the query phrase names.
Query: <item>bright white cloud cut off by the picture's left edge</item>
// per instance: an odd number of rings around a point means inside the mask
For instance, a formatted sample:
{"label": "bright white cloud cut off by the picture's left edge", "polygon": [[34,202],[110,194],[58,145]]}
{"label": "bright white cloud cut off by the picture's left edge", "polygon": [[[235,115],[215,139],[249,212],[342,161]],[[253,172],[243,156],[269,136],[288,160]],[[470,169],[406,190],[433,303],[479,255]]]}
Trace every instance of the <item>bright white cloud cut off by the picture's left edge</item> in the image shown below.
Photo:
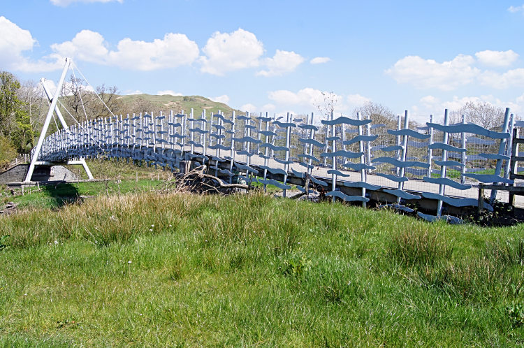
{"label": "bright white cloud cut off by the picture's left edge", "polygon": [[6,70],[24,71],[54,71],[64,66],[65,61],[52,57],[51,61],[31,61],[22,52],[32,50],[38,45],[36,39],[28,30],[18,27],[6,17],[0,16],[0,66]]}

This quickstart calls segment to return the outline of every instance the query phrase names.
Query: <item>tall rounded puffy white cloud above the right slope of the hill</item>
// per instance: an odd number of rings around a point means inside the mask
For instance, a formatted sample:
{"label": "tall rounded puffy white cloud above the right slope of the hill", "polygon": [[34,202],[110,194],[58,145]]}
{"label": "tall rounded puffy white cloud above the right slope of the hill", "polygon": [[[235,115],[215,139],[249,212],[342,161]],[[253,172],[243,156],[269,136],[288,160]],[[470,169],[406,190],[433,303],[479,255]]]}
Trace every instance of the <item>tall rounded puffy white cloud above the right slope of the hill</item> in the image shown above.
{"label": "tall rounded puffy white cloud above the right slope of the hill", "polygon": [[239,28],[231,34],[215,32],[202,51],[205,57],[201,57],[201,71],[224,75],[228,71],[259,66],[264,48],[254,34]]}

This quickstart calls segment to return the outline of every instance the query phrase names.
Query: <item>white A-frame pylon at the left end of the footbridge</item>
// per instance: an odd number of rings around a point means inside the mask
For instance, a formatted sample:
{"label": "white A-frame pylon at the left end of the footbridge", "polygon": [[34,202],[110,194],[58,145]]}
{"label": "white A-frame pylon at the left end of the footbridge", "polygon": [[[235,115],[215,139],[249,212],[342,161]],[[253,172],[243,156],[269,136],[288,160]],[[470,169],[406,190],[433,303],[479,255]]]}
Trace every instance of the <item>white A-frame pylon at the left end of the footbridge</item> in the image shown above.
{"label": "white A-frame pylon at the left end of the footbridge", "polygon": [[[67,133],[69,133],[69,128],[66,124],[66,120],[64,119],[64,117],[62,117],[59,111],[59,108],[57,106],[58,99],[60,97],[60,92],[62,90],[62,86],[64,85],[64,80],[66,80],[66,75],[67,75],[67,71],[69,70],[69,66],[71,66],[71,59],[66,58],[66,64],[60,76],[60,80],[58,81],[57,92],[55,93],[54,96],[52,95],[50,90],[45,85],[45,79],[42,79],[43,80],[42,81],[43,89],[45,91],[45,94],[48,96],[48,100],[51,102],[51,105],[49,107],[48,115],[45,117],[45,122],[42,128],[42,133],[40,134],[40,138],[38,138],[38,144],[36,144],[36,148],[34,150],[33,156],[31,157],[31,164],[29,165],[29,171],[27,171],[27,175],[25,177],[24,182],[31,181],[31,177],[33,176],[34,168],[36,166],[52,166],[54,164],[54,163],[46,162],[46,161],[38,161],[38,156],[40,156],[42,145],[45,140],[45,135],[46,133],[48,133],[48,128],[51,122],[51,117],[53,115],[53,112],[57,113],[57,116],[60,119],[62,126],[64,127],[64,129],[66,129]],[[85,163],[85,159],[82,158],[79,161],[66,161],[66,164],[81,164],[84,167],[85,172],[87,173],[87,177],[89,177],[90,180],[93,179],[93,175],[91,171],[89,171],[89,168],[87,167],[87,164]]]}

